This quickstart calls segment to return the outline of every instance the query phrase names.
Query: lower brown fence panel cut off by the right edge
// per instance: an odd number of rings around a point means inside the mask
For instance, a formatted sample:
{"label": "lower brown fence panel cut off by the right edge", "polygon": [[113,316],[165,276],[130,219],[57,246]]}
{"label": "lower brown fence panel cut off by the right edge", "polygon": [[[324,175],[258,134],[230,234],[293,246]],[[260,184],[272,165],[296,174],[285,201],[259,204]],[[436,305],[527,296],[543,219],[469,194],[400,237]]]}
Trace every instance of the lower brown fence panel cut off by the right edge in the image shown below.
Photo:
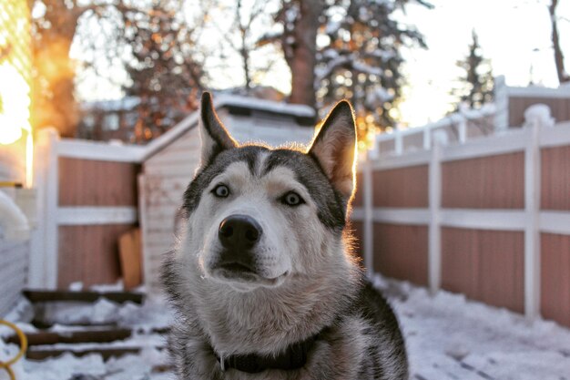
{"label": "lower brown fence panel cut off by the right edge", "polygon": [[570,326],[570,236],[541,234],[541,312]]}

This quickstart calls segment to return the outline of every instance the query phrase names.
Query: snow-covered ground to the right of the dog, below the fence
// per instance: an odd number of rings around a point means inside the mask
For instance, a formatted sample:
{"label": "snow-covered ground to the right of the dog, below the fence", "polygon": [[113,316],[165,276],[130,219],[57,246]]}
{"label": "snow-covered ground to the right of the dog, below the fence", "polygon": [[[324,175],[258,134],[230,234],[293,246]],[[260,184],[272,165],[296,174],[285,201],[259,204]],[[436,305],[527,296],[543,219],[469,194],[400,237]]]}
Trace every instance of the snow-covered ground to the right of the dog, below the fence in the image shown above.
{"label": "snow-covered ground to the right of the dog, below the fence", "polygon": [[375,279],[391,295],[414,380],[570,380],[570,330],[406,282]]}

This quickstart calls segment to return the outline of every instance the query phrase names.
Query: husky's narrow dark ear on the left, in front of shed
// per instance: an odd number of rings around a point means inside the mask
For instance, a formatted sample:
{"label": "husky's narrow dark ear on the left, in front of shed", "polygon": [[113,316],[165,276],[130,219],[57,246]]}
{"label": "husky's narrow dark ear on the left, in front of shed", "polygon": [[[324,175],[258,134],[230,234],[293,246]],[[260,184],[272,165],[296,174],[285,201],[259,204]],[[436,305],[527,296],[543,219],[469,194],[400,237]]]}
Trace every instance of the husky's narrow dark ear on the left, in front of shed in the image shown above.
{"label": "husky's narrow dark ear on the left, in front of shed", "polygon": [[238,143],[229,136],[228,130],[219,121],[209,92],[202,94],[198,124],[202,144],[200,167],[206,166],[220,151],[238,146]]}

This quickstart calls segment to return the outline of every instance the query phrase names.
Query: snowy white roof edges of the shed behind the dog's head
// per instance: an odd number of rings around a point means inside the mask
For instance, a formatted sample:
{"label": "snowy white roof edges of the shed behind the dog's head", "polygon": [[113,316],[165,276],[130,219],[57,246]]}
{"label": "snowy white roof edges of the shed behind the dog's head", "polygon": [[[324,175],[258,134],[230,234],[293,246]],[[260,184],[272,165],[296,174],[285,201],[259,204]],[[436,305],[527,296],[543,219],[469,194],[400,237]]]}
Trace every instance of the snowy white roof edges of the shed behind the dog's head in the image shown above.
{"label": "snowy white roof edges of the shed behind the dog's head", "polygon": [[[314,118],[315,111],[309,106],[304,106],[300,104],[287,104],[279,103],[271,100],[264,100],[259,98],[249,98],[242,97],[238,95],[219,95],[214,98],[215,108],[249,108],[259,111],[265,111],[270,113],[276,113],[280,115],[290,115],[298,118]],[[177,125],[170,128],[168,132],[164,135],[159,136],[157,139],[153,139],[145,147],[145,153],[143,155],[143,161],[149,159],[151,156],[156,154],[159,150],[166,148],[175,139],[178,139],[180,135],[184,134],[188,129],[194,128],[198,125],[199,112],[195,111],[189,114],[186,118],[183,118]]]}

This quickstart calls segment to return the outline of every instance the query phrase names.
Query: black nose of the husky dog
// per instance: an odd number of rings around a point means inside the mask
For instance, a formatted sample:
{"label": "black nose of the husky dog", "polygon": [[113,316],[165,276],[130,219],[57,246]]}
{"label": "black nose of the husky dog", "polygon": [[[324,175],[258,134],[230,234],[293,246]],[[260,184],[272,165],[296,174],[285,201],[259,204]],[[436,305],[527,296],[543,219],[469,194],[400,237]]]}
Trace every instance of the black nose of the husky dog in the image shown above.
{"label": "black nose of the husky dog", "polygon": [[247,215],[230,215],[219,223],[218,237],[221,245],[233,250],[249,250],[260,241],[260,224]]}

